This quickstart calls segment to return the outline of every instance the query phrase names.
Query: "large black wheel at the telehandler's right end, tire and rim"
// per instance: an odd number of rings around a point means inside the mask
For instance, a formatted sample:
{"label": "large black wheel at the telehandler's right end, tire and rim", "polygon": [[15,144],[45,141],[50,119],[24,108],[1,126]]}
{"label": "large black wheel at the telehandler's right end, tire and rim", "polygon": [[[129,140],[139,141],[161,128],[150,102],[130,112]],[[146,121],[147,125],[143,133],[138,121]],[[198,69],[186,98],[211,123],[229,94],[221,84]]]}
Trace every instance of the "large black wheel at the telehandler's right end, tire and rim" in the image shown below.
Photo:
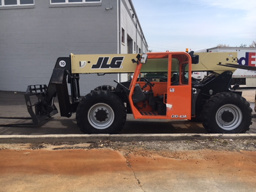
{"label": "large black wheel at the telehandler's right end, tire and rim", "polygon": [[250,104],[236,93],[217,93],[207,100],[202,122],[210,133],[242,133],[252,124]]}

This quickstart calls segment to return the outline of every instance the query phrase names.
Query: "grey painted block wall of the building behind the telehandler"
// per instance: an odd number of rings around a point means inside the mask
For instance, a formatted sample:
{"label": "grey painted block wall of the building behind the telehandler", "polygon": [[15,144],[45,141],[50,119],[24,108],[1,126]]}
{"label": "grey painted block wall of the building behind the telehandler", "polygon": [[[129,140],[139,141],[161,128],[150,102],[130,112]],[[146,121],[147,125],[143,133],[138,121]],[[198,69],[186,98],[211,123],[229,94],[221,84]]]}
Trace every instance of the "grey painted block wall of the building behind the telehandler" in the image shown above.
{"label": "grey painted block wall of the building behind the telehandler", "polygon": [[[118,1],[56,5],[35,0],[33,6],[0,7],[0,90],[24,92],[29,84],[48,84],[57,58],[70,53],[120,52]],[[115,85],[113,79],[120,76],[81,75],[81,95],[102,84]]]}

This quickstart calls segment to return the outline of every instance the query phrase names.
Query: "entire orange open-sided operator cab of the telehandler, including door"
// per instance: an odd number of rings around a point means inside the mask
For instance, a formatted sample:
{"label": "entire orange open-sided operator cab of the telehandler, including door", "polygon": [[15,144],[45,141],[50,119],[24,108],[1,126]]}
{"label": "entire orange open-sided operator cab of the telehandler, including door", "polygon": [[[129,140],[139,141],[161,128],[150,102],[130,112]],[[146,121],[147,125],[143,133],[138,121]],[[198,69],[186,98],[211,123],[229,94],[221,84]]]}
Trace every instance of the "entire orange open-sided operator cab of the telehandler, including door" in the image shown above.
{"label": "entire orange open-sided operator cab of the telehandler, including door", "polygon": [[[191,117],[191,57],[186,52],[148,53],[134,73],[132,113],[138,118]],[[132,87],[131,85],[129,85]]]}

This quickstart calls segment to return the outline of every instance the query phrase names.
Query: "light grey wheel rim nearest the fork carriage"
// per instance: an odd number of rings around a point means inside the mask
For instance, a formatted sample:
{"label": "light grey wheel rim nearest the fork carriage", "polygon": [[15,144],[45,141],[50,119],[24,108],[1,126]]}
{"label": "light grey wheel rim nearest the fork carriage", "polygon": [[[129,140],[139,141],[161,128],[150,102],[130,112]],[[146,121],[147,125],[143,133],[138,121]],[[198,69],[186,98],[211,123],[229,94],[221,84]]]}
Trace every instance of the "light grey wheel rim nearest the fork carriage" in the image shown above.
{"label": "light grey wheel rim nearest the fork carriage", "polygon": [[115,113],[108,104],[97,103],[88,111],[88,121],[96,129],[108,128],[114,119]]}

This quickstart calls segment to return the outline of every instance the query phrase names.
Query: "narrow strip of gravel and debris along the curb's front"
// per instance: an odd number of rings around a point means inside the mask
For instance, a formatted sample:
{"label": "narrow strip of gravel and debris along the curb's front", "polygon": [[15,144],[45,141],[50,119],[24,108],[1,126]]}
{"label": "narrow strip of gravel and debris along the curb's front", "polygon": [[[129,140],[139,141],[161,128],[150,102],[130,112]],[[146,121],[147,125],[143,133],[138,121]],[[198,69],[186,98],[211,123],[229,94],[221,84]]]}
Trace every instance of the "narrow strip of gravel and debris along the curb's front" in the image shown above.
{"label": "narrow strip of gravel and debris along the curb's front", "polygon": [[[0,150],[70,150],[70,149],[93,149],[111,148],[123,152],[132,152],[141,156],[159,155],[163,157],[172,156],[172,152],[188,150],[226,150],[226,151],[256,151],[256,139],[250,140],[185,140],[185,141],[97,141],[95,143],[17,143],[0,144]],[[170,153],[171,152],[171,153]]]}

